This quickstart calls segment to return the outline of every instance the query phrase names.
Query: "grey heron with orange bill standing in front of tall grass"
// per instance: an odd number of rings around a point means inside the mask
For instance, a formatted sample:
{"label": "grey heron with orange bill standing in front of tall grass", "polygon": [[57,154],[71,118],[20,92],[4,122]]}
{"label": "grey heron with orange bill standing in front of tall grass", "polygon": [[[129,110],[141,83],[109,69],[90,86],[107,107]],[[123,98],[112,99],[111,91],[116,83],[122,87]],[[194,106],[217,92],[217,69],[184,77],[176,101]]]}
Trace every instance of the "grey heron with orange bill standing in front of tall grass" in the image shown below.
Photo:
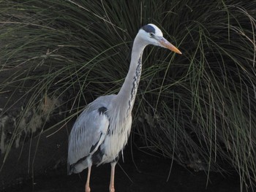
{"label": "grey heron with orange bill standing in front of tall grass", "polygon": [[86,192],[91,191],[91,166],[105,163],[111,164],[109,191],[115,191],[115,166],[131,131],[132,107],[140,82],[143,50],[147,45],[165,47],[181,54],[154,24],[140,28],[133,42],[129,72],[118,94],[99,96],[88,104],[69,134],[68,174],[88,168]]}

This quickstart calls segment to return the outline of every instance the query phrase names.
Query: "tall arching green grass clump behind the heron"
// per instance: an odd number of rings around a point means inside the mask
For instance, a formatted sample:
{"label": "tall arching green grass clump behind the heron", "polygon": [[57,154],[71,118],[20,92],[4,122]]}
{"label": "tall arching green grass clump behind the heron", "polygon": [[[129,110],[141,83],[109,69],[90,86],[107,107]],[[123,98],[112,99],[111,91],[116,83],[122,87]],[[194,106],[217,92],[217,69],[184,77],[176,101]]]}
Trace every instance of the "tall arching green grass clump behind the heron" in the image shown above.
{"label": "tall arching green grass clump behind the heron", "polygon": [[132,39],[155,23],[183,55],[146,49],[133,131],[179,164],[206,172],[229,164],[241,190],[254,185],[255,1],[18,2],[0,8],[0,72],[12,74],[0,93],[25,88],[24,113],[46,96],[64,98],[68,120],[117,93]]}

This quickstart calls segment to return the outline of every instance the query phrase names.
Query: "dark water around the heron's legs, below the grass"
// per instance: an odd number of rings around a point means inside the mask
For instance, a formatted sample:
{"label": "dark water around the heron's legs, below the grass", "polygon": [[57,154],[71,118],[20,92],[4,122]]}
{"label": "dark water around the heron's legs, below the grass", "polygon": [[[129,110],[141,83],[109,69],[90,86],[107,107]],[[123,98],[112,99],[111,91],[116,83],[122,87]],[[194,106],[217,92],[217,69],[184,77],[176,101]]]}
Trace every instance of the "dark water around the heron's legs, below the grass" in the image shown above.
{"label": "dark water around the heron's legs, below the grass", "polygon": [[[205,172],[193,172],[189,169],[173,164],[170,172],[171,161],[169,159],[156,158],[140,151],[133,154],[132,161],[129,150],[125,154],[125,162],[119,160],[116,166],[115,185],[116,192],[238,192],[240,191],[239,177],[229,174],[212,172],[208,185]],[[136,166],[137,168],[136,168]],[[14,170],[15,171],[15,170]],[[167,180],[170,172],[169,180]],[[80,174],[67,176],[67,167],[61,164],[56,169],[45,170],[44,174],[34,177],[34,180],[26,180],[15,184],[4,191],[84,191],[87,170]],[[110,164],[99,167],[94,166],[91,171],[91,192],[108,191],[110,180]]]}

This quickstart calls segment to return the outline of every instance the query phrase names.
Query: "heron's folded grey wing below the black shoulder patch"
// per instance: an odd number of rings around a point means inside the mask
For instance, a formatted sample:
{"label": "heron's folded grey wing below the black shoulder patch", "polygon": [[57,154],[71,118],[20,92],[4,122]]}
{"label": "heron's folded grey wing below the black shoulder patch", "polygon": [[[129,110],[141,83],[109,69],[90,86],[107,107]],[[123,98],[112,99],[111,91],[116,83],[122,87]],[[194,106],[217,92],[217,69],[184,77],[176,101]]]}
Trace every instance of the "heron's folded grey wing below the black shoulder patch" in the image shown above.
{"label": "heron's folded grey wing below the black shoulder patch", "polygon": [[76,120],[69,135],[69,165],[97,151],[108,132],[109,119],[99,107],[89,106]]}

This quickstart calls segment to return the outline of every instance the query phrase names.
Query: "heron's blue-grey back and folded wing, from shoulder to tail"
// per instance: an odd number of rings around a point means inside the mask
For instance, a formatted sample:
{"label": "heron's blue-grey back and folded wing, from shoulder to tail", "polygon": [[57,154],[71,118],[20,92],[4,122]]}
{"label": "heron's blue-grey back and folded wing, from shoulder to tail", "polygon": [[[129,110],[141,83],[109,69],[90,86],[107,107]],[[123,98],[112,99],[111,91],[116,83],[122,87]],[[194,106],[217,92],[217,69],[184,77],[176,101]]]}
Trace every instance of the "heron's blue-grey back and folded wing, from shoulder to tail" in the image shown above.
{"label": "heron's blue-grey back and folded wing, from shoulder to tail", "polygon": [[69,136],[68,174],[86,169],[90,164],[87,158],[91,158],[102,144],[108,133],[109,118],[106,111],[99,109],[105,107],[108,110],[113,97],[101,96],[94,100],[75,121]]}

